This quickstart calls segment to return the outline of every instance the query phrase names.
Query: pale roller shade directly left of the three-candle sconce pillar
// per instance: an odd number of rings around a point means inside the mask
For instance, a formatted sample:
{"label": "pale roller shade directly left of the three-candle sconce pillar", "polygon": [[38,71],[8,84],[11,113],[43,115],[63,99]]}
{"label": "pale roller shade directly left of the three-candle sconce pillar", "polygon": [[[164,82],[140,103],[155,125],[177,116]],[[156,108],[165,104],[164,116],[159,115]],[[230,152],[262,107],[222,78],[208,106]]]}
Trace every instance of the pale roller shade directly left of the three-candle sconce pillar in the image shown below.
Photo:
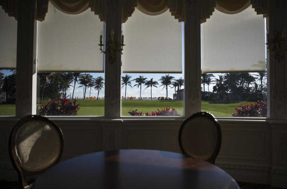
{"label": "pale roller shade directly left of the three-candle sconce pillar", "polygon": [[38,28],[38,71],[103,72],[100,33],[104,23],[90,10],[62,13],[49,3]]}

